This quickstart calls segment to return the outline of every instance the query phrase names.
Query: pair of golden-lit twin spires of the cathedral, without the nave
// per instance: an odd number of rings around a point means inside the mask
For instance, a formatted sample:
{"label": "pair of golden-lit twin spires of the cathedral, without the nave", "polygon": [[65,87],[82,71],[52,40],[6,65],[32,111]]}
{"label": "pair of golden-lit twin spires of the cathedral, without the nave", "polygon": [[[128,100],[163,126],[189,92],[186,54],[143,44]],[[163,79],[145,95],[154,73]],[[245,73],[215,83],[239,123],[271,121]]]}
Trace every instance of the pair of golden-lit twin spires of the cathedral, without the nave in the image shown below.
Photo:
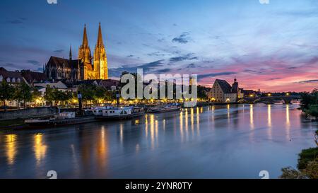
{"label": "pair of golden-lit twin spires of the cathedral, without the nave", "polygon": [[98,28],[98,41],[96,43],[94,57],[91,57],[90,47],[88,45],[88,37],[86,32],[86,25],[84,26],[83,42],[78,50],[78,59],[84,64],[92,64],[93,59],[93,71],[95,79],[107,79],[107,57],[105,52],[105,46],[102,41],[102,29],[99,25]]}

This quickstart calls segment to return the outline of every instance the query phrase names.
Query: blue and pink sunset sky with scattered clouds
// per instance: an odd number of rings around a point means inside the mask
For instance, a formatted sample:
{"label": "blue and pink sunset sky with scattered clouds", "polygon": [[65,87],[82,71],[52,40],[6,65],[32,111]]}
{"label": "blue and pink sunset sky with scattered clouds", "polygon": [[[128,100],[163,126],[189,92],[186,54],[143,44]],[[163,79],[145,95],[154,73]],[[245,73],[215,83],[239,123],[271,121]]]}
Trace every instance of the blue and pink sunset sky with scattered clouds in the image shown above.
{"label": "blue and pink sunset sky with scattered clouds", "polygon": [[42,71],[50,56],[73,58],[98,23],[109,74],[198,74],[261,91],[318,88],[318,0],[2,0],[0,66]]}

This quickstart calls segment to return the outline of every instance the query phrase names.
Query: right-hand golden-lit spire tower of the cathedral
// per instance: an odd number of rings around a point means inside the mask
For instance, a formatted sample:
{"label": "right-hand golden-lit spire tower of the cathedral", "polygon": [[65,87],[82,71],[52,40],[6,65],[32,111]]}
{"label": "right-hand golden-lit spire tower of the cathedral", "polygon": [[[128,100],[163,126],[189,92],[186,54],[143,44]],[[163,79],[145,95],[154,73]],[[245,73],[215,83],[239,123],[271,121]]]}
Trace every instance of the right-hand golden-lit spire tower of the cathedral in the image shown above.
{"label": "right-hand golden-lit spire tower of the cathedral", "polygon": [[107,57],[102,42],[102,28],[98,28],[98,41],[94,52],[94,71],[96,79],[108,79]]}

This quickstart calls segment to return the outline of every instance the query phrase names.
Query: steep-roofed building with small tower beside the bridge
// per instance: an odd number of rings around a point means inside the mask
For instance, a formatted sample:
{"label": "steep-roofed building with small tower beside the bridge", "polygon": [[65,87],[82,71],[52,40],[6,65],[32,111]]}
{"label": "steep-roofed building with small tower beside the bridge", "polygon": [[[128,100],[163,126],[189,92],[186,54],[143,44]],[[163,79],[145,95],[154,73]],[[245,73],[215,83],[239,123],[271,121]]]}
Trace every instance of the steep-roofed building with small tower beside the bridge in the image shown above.
{"label": "steep-roofed building with small tower beside the bridge", "polygon": [[232,86],[225,80],[216,79],[208,94],[210,100],[216,103],[235,103],[241,96],[236,78]]}

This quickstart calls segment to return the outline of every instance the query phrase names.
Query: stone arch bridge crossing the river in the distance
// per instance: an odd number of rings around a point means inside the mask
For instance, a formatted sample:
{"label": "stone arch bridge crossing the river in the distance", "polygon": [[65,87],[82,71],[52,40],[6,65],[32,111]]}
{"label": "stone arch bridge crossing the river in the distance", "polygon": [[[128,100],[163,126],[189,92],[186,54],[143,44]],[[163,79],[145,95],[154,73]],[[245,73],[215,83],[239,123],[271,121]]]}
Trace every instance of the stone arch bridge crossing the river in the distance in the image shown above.
{"label": "stone arch bridge crossing the river in the distance", "polygon": [[245,97],[239,103],[266,103],[273,104],[275,100],[283,100],[285,104],[291,104],[292,100],[300,100],[300,95],[266,96],[266,97]]}

